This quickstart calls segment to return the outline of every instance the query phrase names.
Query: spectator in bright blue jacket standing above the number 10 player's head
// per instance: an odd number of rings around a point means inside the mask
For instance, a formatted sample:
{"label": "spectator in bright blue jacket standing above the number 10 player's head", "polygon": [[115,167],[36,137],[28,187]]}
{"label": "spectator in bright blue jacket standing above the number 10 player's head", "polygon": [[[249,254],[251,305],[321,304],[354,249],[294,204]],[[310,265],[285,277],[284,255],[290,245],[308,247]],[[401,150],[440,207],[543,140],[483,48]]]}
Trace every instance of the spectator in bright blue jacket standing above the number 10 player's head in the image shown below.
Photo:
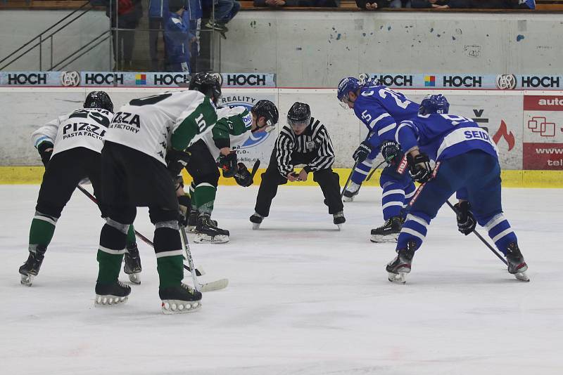
{"label": "spectator in bright blue jacket standing above the number 10 player's head", "polygon": [[189,12],[184,0],[168,0],[170,17],[164,23],[166,71],[189,73],[189,45],[196,36],[189,32]]}

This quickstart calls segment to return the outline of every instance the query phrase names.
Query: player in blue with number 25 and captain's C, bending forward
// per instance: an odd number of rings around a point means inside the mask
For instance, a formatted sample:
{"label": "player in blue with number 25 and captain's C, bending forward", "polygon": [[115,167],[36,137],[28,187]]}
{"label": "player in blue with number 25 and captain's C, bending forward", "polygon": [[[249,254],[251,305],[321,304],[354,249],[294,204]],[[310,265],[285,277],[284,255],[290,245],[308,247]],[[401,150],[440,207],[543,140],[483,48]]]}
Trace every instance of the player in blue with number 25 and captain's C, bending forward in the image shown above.
{"label": "player in blue with number 25 and captain's C, bending forward", "polygon": [[356,167],[351,183],[344,191],[345,200],[346,197],[353,199],[358,193],[374,159],[381,152],[388,162],[379,178],[383,188],[381,205],[385,223],[372,230],[370,239],[372,242],[396,242],[404,219],[403,208],[415,194],[415,184],[407,173],[407,161],[396,142],[383,143],[381,137],[394,134],[400,121],[415,117],[419,105],[377,82],[361,83],[354,77],[340,81],[337,97],[343,105],[354,110],[369,131],[366,140],[353,154]]}

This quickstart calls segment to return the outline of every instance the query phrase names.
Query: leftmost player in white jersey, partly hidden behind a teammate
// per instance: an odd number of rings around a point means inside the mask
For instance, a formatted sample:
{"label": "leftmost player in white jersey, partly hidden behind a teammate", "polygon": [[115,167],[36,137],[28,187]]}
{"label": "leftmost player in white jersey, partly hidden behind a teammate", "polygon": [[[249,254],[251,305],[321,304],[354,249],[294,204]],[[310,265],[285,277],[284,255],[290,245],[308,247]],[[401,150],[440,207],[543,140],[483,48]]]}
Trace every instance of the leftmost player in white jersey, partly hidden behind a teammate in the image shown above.
{"label": "leftmost player in white jersey, partly hidden behind a teammate", "polygon": [[[45,173],[30,228],[30,254],[19,270],[22,284],[31,286],[39,273],[58,218],[78,183],[88,178],[94,195],[100,199],[100,152],[111,119],[113,103],[108,94],[92,91],[84,101],[84,108],[49,121],[32,134]],[[99,207],[105,216],[103,204]],[[127,236],[127,251],[130,253],[126,257],[125,271],[137,276],[141,263],[133,228]]]}

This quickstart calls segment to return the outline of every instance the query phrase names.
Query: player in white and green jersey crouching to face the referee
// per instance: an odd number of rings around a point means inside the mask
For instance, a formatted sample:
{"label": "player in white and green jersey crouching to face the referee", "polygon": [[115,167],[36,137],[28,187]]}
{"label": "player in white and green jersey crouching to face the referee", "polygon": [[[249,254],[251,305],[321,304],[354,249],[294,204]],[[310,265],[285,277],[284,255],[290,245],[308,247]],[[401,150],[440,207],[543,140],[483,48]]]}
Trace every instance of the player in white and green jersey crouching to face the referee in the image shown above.
{"label": "player in white and green jersey crouching to face the referee", "polygon": [[217,117],[213,130],[188,149],[191,158],[186,169],[194,178],[189,224],[194,226],[194,240],[200,243],[229,241],[229,231],[218,228],[210,218],[220,176],[217,165],[223,177],[232,177],[243,187],[252,185],[250,171],[237,162],[236,147],[243,145],[252,133],[274,130],[279,114],[270,100],[258,100],[250,111],[242,106],[222,107],[217,110]]}

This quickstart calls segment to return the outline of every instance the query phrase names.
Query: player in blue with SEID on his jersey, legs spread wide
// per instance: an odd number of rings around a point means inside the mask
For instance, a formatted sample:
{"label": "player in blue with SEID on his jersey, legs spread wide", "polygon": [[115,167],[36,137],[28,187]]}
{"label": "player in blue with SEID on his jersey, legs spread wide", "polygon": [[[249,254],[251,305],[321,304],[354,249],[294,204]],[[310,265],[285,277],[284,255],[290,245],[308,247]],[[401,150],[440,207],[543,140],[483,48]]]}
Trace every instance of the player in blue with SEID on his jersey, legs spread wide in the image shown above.
{"label": "player in blue with SEID on his jersey, legs spread wide", "polygon": [[[397,242],[397,256],[386,267],[388,279],[405,282],[412,257],[426,237],[426,227],[457,192],[459,202],[455,209],[460,232],[469,235],[476,223],[485,227],[506,256],[508,272],[529,281],[517,237],[502,214],[496,146],[474,121],[448,114],[449,107],[444,96],[426,96],[419,115],[412,121],[403,121],[396,130],[395,138],[407,154],[409,171],[422,185],[410,202]],[[436,161],[434,170],[430,159]]]}

